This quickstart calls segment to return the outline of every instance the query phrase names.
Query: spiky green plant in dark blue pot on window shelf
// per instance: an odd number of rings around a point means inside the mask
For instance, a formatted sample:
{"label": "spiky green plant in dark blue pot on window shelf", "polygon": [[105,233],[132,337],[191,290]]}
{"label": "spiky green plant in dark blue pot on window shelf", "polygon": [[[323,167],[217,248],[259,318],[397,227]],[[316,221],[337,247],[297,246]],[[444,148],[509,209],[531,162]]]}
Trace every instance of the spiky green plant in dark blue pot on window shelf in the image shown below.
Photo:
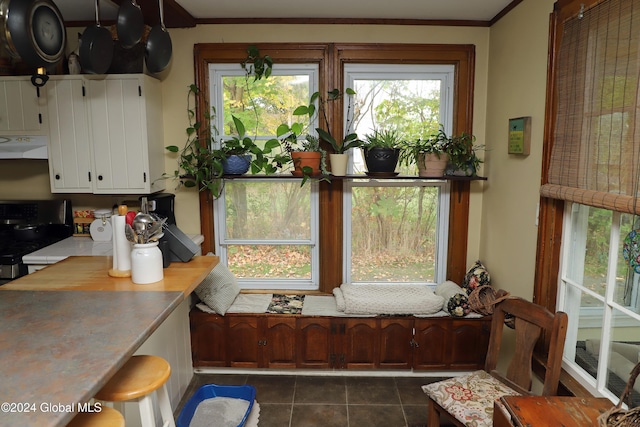
{"label": "spiky green plant in dark blue pot on window shelf", "polygon": [[394,129],[376,129],[363,144],[367,175],[394,175],[403,140]]}

